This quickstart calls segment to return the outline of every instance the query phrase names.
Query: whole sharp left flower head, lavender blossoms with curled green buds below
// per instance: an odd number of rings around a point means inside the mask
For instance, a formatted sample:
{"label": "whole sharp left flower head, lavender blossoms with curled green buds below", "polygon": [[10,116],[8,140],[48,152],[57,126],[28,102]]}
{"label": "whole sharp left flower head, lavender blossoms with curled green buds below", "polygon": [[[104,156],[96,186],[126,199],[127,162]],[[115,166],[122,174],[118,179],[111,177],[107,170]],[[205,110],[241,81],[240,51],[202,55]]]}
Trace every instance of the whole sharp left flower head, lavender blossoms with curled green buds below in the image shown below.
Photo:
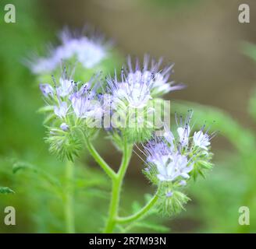
{"label": "whole sharp left flower head, lavender blossoms with curled green buds below", "polygon": [[88,137],[96,133],[95,127],[101,122],[103,109],[98,89],[101,86],[99,75],[88,82],[75,82],[73,74],[64,68],[59,81],[53,78],[53,86],[41,84],[46,107],[41,108],[48,114],[48,138],[52,153],[60,158],[73,160],[81,149],[81,131]]}

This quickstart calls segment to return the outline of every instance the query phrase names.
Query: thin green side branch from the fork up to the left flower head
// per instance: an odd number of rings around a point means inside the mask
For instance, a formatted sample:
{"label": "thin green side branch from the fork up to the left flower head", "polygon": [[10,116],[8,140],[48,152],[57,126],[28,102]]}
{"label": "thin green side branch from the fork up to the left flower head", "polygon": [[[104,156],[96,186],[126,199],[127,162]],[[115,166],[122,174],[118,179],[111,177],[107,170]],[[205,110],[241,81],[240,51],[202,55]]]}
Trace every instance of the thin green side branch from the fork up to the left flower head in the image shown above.
{"label": "thin green side branch from the fork up to the left flower head", "polygon": [[105,173],[108,175],[108,177],[115,179],[116,178],[115,171],[112,170],[112,168],[108,166],[108,163],[106,163],[105,160],[102,159],[102,157],[98,154],[97,150],[94,148],[92,143],[87,138],[84,138],[84,141],[86,143],[87,149],[91,153],[91,156],[94,157],[94,160],[105,171]]}

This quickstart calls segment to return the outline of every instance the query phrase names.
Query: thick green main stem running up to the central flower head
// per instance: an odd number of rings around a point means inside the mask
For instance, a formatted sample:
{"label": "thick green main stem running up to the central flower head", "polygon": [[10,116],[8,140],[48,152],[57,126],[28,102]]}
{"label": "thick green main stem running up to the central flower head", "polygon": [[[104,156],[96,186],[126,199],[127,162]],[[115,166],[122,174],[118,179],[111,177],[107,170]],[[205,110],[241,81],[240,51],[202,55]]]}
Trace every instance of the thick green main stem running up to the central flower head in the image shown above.
{"label": "thick green main stem running up to the central flower head", "polygon": [[132,147],[128,146],[125,140],[124,149],[123,149],[123,160],[119,168],[119,171],[116,175],[116,178],[112,180],[112,198],[110,201],[108,221],[105,226],[105,233],[112,233],[112,231],[115,229],[115,226],[116,226],[116,218],[119,212],[119,202],[120,202],[121,188],[123,184],[123,177],[126,174],[126,170],[130,162],[131,154],[132,154]]}

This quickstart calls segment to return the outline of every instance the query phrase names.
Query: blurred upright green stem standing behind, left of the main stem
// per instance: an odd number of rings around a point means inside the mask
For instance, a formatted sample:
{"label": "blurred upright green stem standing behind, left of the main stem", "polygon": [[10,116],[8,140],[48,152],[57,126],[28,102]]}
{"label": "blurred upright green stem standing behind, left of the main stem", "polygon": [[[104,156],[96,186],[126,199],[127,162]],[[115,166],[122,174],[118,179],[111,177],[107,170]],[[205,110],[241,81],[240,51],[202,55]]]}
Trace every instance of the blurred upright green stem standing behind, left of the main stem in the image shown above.
{"label": "blurred upright green stem standing behind, left of the main stem", "polygon": [[75,219],[73,213],[73,177],[74,165],[67,161],[66,163],[66,196],[65,196],[65,219],[66,219],[66,233],[75,233]]}

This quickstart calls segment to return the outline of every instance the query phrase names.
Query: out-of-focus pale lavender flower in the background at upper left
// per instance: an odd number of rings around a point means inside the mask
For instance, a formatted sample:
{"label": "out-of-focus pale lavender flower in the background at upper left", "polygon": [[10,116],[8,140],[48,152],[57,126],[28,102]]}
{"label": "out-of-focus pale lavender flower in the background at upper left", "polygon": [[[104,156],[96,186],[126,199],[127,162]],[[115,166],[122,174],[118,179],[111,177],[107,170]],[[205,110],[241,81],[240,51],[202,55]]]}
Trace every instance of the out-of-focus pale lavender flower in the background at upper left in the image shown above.
{"label": "out-of-focus pale lavender flower in the background at upper left", "polygon": [[59,35],[61,44],[51,46],[46,57],[34,57],[27,64],[34,74],[54,71],[61,65],[62,60],[75,58],[84,68],[93,68],[108,55],[110,43],[106,43],[100,35],[75,35],[64,29]]}

